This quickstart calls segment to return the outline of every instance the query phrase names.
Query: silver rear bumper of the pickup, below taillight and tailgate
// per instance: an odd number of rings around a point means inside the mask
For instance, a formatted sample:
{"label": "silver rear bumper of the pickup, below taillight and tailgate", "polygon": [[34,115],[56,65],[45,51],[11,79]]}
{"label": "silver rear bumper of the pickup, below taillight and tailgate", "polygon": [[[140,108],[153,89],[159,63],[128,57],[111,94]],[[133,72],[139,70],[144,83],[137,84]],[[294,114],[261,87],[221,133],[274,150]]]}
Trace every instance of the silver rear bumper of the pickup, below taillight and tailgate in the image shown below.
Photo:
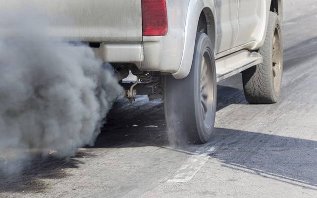
{"label": "silver rear bumper of the pickup, below taillight and tailgate", "polygon": [[141,71],[173,74],[180,67],[183,39],[179,32],[173,36],[143,37],[142,43],[102,43],[94,51],[105,62],[134,63]]}

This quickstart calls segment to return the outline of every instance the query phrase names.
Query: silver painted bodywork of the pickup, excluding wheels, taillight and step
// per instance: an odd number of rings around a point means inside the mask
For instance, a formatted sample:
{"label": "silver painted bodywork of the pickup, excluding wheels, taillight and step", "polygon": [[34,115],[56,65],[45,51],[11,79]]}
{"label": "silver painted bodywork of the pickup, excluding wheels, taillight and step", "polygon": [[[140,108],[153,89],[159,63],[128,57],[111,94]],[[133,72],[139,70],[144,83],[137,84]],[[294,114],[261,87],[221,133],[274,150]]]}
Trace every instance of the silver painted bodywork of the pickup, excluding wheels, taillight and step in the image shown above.
{"label": "silver painted bodywork of the pickup, excluding wheels, taillight and step", "polygon": [[[188,75],[199,16],[204,11],[215,58],[259,49],[265,39],[271,0],[166,0],[168,33],[142,36],[141,0],[1,0],[0,8],[39,7],[52,20],[52,36],[100,42],[104,61],[135,63],[143,71]],[[279,6],[282,7],[281,0]],[[282,9],[279,10],[282,18]],[[60,20],[62,19],[62,20]],[[0,30],[0,36],[5,31]],[[228,62],[227,64],[230,64]]]}

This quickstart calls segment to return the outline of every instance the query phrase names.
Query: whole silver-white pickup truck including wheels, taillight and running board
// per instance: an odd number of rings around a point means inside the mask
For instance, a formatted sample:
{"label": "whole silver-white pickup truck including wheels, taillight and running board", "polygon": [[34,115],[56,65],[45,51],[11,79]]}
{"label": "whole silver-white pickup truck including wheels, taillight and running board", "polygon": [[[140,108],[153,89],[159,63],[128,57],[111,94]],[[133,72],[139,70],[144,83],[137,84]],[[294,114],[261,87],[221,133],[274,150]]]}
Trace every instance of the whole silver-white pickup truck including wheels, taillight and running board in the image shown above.
{"label": "whole silver-white pickup truck including wheels, taillight and running board", "polygon": [[[1,0],[14,8],[25,0]],[[126,97],[163,98],[169,130],[194,144],[213,131],[217,82],[242,72],[250,103],[279,99],[282,0],[28,0],[56,20],[51,33],[110,62]],[[58,17],[57,17],[58,18]]]}

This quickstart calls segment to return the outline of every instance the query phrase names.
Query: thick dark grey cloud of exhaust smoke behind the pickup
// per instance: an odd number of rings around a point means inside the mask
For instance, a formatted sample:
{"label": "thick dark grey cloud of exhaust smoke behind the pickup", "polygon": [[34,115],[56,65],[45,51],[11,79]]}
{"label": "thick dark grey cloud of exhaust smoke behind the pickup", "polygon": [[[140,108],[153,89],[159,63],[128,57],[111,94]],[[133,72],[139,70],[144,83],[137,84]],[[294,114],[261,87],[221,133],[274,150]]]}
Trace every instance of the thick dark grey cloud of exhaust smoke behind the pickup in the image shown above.
{"label": "thick dark grey cloud of exhaust smoke behind the pickup", "polygon": [[14,150],[54,149],[64,157],[93,145],[123,92],[91,48],[52,39],[50,20],[35,13],[0,14],[0,32],[8,33],[0,36],[0,169],[6,173],[23,163],[4,157]]}

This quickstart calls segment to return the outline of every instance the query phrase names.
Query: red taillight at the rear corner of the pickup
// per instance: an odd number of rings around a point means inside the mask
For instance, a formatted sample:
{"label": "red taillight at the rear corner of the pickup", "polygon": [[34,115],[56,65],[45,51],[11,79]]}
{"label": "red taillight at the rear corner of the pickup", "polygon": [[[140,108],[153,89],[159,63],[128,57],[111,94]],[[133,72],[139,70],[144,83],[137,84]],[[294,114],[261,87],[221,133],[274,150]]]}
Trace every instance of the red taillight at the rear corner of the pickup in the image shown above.
{"label": "red taillight at the rear corner of the pickup", "polygon": [[167,10],[165,0],[142,0],[143,36],[167,34]]}

